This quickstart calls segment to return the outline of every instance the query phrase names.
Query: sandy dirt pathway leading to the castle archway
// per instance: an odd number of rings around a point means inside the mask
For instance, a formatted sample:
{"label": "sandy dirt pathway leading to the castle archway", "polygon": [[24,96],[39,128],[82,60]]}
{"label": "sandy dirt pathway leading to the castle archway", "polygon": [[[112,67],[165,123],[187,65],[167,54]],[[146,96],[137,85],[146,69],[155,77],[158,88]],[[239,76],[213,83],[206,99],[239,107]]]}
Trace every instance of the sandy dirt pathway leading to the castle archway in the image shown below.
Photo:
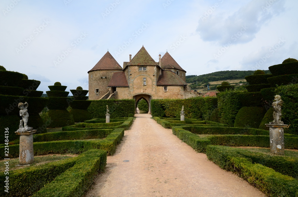
{"label": "sandy dirt pathway leading to the castle archway", "polygon": [[86,197],[265,197],[242,178],[209,161],[206,154],[196,153],[151,115],[135,116],[116,153],[107,158],[105,173],[95,180]]}

